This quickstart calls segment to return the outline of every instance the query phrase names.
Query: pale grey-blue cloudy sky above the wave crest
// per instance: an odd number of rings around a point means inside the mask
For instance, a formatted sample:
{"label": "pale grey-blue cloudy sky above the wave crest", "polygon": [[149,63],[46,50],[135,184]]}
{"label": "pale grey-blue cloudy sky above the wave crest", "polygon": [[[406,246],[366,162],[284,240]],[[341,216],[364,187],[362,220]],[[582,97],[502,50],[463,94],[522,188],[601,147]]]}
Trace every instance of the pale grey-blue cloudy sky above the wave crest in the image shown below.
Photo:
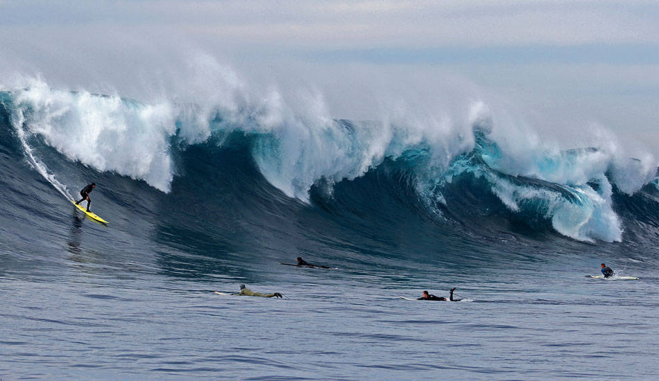
{"label": "pale grey-blue cloudy sky above the wave crest", "polygon": [[149,102],[218,75],[317,91],[336,118],[479,99],[564,148],[596,128],[659,157],[656,0],[0,0],[1,86]]}

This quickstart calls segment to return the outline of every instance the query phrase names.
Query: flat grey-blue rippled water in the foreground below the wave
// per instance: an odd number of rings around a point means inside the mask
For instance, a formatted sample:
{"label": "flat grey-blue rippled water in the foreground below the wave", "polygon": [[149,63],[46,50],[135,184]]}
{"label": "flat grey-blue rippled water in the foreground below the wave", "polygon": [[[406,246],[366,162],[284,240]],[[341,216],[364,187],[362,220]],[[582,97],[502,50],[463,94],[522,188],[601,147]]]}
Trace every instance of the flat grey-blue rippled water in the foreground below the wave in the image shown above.
{"label": "flat grey-blue rippled water in the foreground below the wave", "polygon": [[45,279],[16,269],[0,278],[3,380],[656,380],[659,373],[658,278],[650,272],[599,281],[510,269],[461,278],[456,292],[473,301],[447,303],[397,298],[424,288],[445,295],[447,274],[395,280],[281,266],[276,281],[249,287],[288,299],[264,299],[213,294],[237,290],[221,279],[136,275],[72,258],[60,265],[44,269]]}

